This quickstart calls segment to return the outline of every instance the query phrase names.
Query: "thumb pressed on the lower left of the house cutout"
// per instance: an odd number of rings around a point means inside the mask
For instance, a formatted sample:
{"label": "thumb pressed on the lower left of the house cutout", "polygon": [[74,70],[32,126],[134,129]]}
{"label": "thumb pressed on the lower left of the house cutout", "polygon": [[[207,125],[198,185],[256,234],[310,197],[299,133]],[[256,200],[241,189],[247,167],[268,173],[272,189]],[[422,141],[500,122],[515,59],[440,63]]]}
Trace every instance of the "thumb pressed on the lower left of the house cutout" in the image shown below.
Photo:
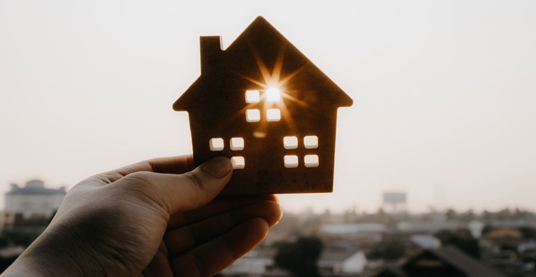
{"label": "thumb pressed on the lower left of the house cutout", "polygon": [[215,157],[184,174],[139,171],[121,180],[127,179],[125,181],[129,186],[141,186],[139,189],[143,191],[150,189],[150,198],[167,209],[169,214],[175,214],[209,203],[226,186],[231,175],[232,165],[229,158]]}

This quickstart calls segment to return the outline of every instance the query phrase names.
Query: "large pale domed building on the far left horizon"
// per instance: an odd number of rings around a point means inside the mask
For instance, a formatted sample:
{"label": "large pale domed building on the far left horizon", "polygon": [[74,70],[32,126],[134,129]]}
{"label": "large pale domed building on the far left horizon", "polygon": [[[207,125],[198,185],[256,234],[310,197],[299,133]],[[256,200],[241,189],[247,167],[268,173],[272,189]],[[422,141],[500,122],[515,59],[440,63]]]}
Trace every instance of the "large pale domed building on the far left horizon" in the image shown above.
{"label": "large pale domed building on the far left horizon", "polygon": [[65,187],[47,189],[41,180],[26,182],[24,187],[11,184],[6,193],[6,214],[29,216],[52,216],[65,197]]}

